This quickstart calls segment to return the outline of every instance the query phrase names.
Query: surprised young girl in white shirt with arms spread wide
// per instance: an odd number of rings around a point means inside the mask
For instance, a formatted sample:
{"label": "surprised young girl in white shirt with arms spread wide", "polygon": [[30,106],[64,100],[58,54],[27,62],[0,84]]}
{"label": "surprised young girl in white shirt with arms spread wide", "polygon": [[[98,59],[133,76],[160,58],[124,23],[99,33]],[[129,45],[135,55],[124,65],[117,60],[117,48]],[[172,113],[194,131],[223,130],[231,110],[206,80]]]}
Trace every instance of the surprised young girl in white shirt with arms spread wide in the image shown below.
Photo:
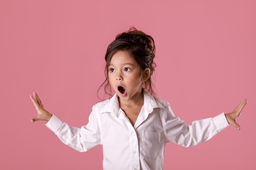
{"label": "surprised young girl in white shirt with arms spread wide", "polygon": [[246,99],[232,113],[192,125],[175,117],[168,102],[157,99],[152,89],[154,57],[153,38],[132,27],[108,46],[106,80],[101,87],[111,94],[111,86],[115,95],[92,107],[87,125],[68,126],[43,108],[35,92],[30,98],[38,115],[31,121],[46,121],[64,144],[79,152],[103,145],[104,170],[162,170],[168,141],[190,147],[209,140],[229,124],[240,129],[236,118]]}

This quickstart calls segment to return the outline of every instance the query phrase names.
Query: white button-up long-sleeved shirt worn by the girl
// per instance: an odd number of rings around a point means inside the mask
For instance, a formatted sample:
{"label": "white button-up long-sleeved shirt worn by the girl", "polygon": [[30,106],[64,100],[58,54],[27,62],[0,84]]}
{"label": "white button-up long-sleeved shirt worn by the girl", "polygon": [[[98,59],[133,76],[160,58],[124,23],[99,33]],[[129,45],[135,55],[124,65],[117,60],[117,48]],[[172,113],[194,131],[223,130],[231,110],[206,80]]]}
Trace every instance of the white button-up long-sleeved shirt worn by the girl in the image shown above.
{"label": "white button-up long-sleeved shirt worn by the girl", "polygon": [[168,141],[185,147],[209,140],[229,126],[224,113],[186,124],[175,117],[168,102],[144,92],[144,105],[132,126],[115,94],[92,107],[89,123],[68,126],[54,115],[46,124],[61,141],[85,152],[103,145],[103,170],[162,170]]}

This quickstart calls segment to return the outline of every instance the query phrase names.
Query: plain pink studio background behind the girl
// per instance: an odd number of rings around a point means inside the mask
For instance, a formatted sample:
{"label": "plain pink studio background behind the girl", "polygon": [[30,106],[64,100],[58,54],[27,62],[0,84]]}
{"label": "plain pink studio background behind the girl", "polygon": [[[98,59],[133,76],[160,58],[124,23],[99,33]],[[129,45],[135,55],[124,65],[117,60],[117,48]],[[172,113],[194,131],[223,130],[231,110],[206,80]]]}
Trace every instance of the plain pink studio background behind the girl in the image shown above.
{"label": "plain pink studio background behind the girl", "polygon": [[168,143],[164,169],[256,168],[256,1],[1,0],[0,169],[102,169],[102,147],[76,152],[31,123],[36,91],[45,108],[71,126],[88,122],[104,80],[104,54],[135,26],[156,44],[157,96],[195,119],[248,104],[238,123],[199,146]]}

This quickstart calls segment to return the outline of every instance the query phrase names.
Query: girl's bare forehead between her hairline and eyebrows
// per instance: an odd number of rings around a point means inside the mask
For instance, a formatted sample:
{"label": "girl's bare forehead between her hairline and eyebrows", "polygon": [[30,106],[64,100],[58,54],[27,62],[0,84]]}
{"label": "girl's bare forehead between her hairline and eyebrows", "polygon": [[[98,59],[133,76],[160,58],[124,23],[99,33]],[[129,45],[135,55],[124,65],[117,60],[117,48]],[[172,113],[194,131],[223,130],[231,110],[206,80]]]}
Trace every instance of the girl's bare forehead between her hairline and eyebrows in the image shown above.
{"label": "girl's bare forehead between her hairline and eyebrows", "polygon": [[132,64],[137,66],[136,60],[127,51],[117,51],[111,58],[109,65]]}

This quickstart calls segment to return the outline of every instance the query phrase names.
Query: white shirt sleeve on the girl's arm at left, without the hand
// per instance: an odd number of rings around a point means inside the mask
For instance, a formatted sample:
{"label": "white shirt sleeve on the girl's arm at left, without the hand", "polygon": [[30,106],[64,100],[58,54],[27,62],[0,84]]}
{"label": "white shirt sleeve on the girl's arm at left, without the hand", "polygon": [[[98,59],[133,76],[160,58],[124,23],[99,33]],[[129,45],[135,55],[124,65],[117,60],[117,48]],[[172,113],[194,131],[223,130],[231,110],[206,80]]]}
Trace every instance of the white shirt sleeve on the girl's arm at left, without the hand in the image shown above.
{"label": "white shirt sleeve on the girl's arm at left, without the hand", "polygon": [[45,125],[52,130],[64,144],[79,152],[85,152],[101,144],[99,119],[94,109],[89,116],[88,124],[81,128],[68,126],[54,115],[52,115],[52,118]]}

